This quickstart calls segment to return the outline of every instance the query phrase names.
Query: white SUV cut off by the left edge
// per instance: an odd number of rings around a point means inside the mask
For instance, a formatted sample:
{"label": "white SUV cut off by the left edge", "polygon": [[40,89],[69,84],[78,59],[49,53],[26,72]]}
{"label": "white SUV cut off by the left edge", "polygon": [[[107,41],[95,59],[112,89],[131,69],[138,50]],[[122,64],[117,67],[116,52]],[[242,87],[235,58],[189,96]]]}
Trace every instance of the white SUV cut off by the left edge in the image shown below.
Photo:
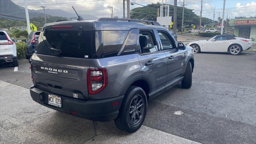
{"label": "white SUV cut off by the left edge", "polygon": [[0,31],[0,64],[11,62],[19,66],[16,45],[5,31]]}

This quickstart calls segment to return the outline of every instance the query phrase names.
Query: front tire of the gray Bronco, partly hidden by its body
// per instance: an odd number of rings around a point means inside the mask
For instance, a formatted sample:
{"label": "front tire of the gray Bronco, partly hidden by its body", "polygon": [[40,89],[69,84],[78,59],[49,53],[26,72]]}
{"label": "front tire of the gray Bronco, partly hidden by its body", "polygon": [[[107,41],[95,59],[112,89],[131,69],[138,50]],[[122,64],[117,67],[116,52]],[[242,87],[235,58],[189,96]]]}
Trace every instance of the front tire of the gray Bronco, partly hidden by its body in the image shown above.
{"label": "front tire of the gray Bronco, partly hidden by its body", "polygon": [[192,66],[190,62],[188,62],[188,66],[181,84],[183,88],[190,88],[192,85]]}

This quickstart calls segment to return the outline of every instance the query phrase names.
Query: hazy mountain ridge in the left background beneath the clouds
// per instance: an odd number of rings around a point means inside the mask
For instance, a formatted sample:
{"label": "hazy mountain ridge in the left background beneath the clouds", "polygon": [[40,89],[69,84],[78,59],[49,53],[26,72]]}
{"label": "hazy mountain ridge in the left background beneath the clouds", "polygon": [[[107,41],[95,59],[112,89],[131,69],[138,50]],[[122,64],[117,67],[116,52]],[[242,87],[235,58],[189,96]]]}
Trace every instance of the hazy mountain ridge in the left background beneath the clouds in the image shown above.
{"label": "hazy mountain ridge in the left background beneath the clouds", "polygon": [[[74,13],[65,12],[60,9],[45,9],[46,14],[51,16],[62,16],[70,19],[76,16]],[[28,9],[29,18],[34,18],[37,16],[44,16],[43,10],[30,10]],[[0,0],[0,18],[8,18],[14,20],[24,20],[26,18],[25,8],[16,5],[11,0]],[[6,16],[3,16],[6,15]],[[10,16],[10,17],[9,17]],[[98,20],[98,17],[92,16],[90,14],[80,14],[85,20]],[[77,17],[77,16],[76,16]]]}

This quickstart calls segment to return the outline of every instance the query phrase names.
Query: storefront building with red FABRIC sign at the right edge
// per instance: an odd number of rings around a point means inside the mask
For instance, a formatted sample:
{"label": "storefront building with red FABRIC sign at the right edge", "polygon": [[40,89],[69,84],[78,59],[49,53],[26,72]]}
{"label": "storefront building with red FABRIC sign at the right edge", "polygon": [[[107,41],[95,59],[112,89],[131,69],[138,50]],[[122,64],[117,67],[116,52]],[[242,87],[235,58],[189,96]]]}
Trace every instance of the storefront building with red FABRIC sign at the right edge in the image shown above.
{"label": "storefront building with red FABRIC sign at the right edge", "polygon": [[234,27],[235,36],[256,41],[256,18],[231,19],[229,25]]}

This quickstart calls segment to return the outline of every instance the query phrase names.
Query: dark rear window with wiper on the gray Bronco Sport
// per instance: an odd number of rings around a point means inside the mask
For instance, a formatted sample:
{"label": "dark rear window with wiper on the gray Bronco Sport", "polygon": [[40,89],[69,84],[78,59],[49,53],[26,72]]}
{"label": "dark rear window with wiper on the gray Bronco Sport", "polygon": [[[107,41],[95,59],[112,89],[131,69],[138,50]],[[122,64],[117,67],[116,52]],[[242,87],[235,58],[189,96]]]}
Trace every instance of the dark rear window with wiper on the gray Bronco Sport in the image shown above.
{"label": "dark rear window with wiper on the gray Bronco Sport", "polygon": [[78,30],[48,30],[45,36],[43,33],[41,32],[38,38],[36,54],[91,58],[92,31],[84,30],[80,36],[78,36]]}

